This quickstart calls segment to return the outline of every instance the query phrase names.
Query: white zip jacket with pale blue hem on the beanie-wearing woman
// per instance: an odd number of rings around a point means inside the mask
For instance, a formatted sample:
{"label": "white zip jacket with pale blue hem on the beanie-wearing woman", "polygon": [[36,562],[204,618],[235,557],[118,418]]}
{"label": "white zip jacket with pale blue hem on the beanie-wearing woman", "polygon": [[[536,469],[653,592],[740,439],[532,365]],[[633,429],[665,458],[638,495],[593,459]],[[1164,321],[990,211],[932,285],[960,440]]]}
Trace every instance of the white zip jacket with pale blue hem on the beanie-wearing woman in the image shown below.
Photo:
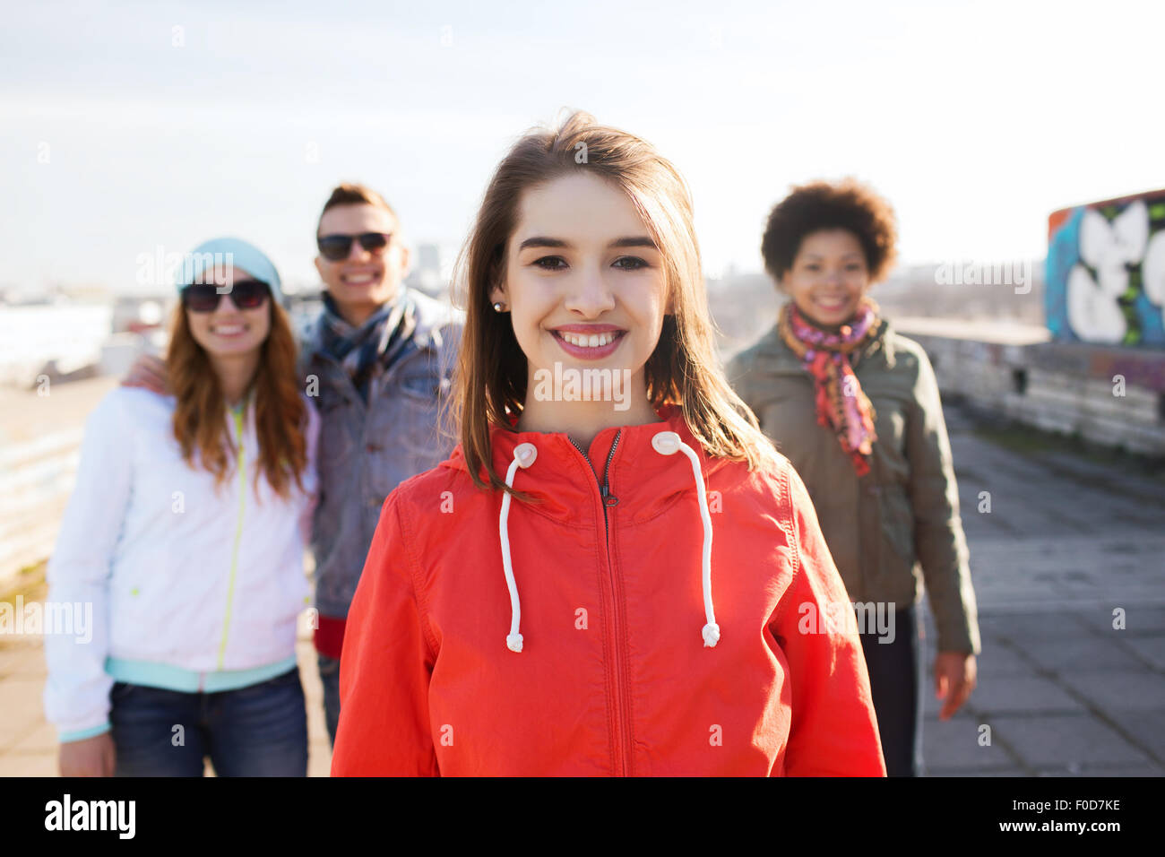
{"label": "white zip jacket with pale blue hem on the beanie-wearing woman", "polygon": [[285,500],[262,476],[256,490],[253,399],[227,412],[239,457],[218,487],[183,461],[172,396],[119,387],[90,415],[47,574],[49,605],[92,610],[85,635],[44,628],[44,708],[62,740],[110,728],[114,681],[214,691],[295,666],[318,494],[319,416],[304,402],[308,466]]}

